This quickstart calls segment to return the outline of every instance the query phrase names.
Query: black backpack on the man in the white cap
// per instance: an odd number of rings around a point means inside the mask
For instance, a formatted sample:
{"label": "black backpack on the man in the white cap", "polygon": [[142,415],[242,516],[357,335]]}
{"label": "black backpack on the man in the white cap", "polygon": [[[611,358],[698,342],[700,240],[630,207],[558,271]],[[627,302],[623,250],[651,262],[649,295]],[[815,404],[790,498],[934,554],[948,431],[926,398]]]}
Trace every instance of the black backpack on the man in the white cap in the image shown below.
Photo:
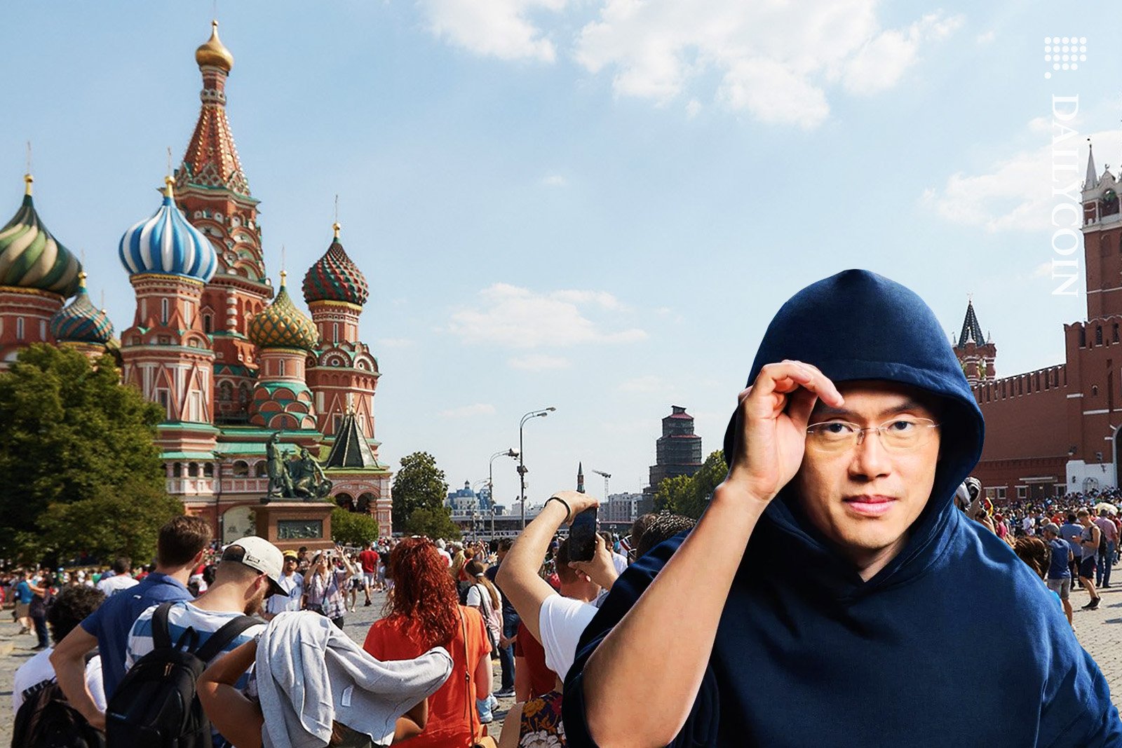
{"label": "black backpack on the man in the white cap", "polygon": [[[195,696],[195,682],[214,656],[239,634],[259,622],[239,616],[199,647],[199,632],[187,628],[173,646],[167,628],[172,602],[151,617],[153,650],[132,665],[105,710],[110,748],[211,748],[211,724]],[[197,648],[196,648],[197,647]]]}

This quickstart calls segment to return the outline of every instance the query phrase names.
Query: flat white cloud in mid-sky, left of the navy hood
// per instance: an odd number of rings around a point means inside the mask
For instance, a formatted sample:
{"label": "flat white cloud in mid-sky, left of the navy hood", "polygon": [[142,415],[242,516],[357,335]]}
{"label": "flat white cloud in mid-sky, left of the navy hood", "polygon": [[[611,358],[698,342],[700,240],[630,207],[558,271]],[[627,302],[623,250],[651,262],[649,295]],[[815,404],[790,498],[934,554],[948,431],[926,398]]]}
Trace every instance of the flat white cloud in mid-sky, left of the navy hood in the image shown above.
{"label": "flat white cloud in mid-sky, left of the navy hood", "polygon": [[[616,312],[622,305],[604,292],[534,293],[495,284],[479,293],[475,308],[452,314],[448,331],[466,343],[490,343],[515,349],[564,348],[581,343],[631,343],[646,338],[637,327],[606,329],[586,315],[589,307]],[[513,364],[512,364],[513,366]]]}

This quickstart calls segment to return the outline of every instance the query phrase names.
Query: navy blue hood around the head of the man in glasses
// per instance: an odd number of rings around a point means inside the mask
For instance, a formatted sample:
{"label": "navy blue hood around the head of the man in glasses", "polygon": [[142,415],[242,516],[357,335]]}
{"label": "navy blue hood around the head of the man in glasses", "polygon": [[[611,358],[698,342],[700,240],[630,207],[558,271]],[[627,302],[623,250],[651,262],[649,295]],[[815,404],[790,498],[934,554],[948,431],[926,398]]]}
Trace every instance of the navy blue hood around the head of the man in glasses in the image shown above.
{"label": "navy blue hood around the head of the man in glasses", "polygon": [[[932,543],[954,509],[955,490],[982,455],[985,434],[982,412],[935,313],[913,290],[893,280],[868,270],[845,270],[807,286],[783,304],[767,325],[745,387],[764,364],[784,359],[812,363],[835,384],[894,381],[944,400],[942,450],[928,506],[912,526],[908,546],[871,580],[872,587],[890,578],[899,583],[922,571],[908,567],[925,552],[937,551]],[[734,414],[725,432],[726,455],[732,454],[735,426]],[[772,501],[767,519],[816,555],[831,555],[789,489]],[[846,573],[845,567],[835,557],[828,562],[830,573],[819,579],[843,594],[863,587],[856,572]]]}

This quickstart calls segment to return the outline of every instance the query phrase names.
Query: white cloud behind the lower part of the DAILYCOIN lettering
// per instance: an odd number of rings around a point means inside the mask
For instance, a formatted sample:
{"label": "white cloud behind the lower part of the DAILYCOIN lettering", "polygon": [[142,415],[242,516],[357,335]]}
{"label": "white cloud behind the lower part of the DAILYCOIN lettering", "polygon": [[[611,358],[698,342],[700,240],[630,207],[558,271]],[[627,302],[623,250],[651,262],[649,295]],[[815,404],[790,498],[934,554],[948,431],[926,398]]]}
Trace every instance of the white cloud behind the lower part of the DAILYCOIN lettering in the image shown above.
{"label": "white cloud behind the lower part of the DAILYCOIN lettering", "polygon": [[[1067,198],[1052,196],[1051,190],[1083,184],[1086,135],[1075,133],[1057,142],[1054,157],[1051,139],[1039,137],[1039,118],[1028,123],[1029,132],[1043,141],[1039,148],[1006,156],[980,174],[951,174],[941,187],[925,191],[921,202],[951,223],[982,227],[988,232],[1052,230],[1052,207]],[[1091,136],[1093,142],[1102,144],[1118,142],[1120,137],[1119,130]],[[1060,153],[1073,148],[1078,150],[1074,161]],[[1068,168],[1072,165],[1074,168]],[[1101,174],[1101,159],[1097,167]],[[1068,220],[1067,214],[1063,220]]]}

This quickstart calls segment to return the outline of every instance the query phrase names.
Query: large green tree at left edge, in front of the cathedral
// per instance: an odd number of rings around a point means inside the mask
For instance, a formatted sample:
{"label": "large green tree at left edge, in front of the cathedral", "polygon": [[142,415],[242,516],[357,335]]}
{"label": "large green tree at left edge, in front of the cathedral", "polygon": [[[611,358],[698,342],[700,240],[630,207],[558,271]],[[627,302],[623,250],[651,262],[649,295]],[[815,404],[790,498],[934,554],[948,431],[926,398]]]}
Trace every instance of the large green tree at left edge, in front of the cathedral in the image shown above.
{"label": "large green tree at left edge, in front of the cathedral", "polygon": [[[154,440],[163,415],[120,385],[108,355],[91,364],[71,349],[20,351],[0,373],[0,555],[34,546],[52,505],[160,492],[164,465]],[[112,527],[98,515],[88,519]]]}

